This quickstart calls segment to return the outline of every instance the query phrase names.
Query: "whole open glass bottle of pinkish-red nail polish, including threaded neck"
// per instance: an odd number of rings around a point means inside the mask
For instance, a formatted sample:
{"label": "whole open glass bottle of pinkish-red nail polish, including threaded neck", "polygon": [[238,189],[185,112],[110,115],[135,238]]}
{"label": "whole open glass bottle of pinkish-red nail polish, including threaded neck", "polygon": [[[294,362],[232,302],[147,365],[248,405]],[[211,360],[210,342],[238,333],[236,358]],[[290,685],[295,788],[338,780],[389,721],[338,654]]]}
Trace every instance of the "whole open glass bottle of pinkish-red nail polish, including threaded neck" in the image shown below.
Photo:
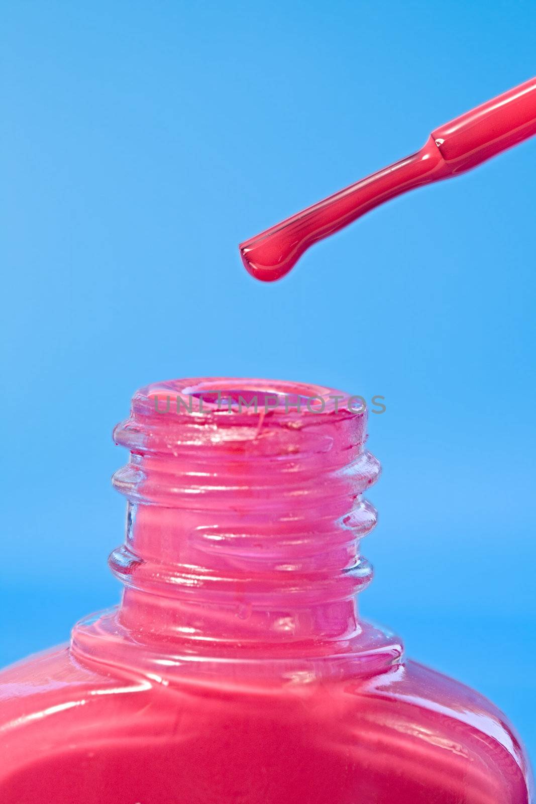
{"label": "whole open glass bottle of pinkish-red nail polish, including threaded neck", "polygon": [[[211,394],[288,395],[268,413]],[[0,802],[528,804],[512,728],[359,617],[366,410],[185,379],[133,397],[117,609],[0,674]],[[203,400],[162,415],[155,396]],[[321,397],[321,413],[298,400]],[[347,396],[347,395],[346,395]],[[179,406],[180,407],[180,406]]]}

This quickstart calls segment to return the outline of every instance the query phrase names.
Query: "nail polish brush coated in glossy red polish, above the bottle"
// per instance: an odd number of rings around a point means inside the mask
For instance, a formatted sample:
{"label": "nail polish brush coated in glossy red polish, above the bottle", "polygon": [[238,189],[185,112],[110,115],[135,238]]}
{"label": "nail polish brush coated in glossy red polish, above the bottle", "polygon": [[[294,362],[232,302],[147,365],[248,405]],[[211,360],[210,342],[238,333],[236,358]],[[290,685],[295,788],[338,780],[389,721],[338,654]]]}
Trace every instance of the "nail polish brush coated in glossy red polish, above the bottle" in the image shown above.
{"label": "nail polish brush coated in glossy red polish, above the bottle", "polygon": [[240,244],[249,273],[284,277],[325,237],[396,195],[480,165],[536,133],[536,78],[436,129],[423,148]]}

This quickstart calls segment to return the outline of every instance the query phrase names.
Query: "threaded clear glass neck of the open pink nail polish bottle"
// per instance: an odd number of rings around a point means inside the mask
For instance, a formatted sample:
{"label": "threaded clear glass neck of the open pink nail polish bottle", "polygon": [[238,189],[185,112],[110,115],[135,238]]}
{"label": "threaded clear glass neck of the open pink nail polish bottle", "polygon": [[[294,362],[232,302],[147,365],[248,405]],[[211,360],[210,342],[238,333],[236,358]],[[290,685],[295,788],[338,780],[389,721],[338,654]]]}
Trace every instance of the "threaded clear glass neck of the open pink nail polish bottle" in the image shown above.
{"label": "threaded clear glass neck of the open pink nail polish bottle", "polygon": [[[215,389],[229,407],[215,407]],[[252,396],[257,411],[236,408]],[[362,494],[379,467],[364,447],[366,411],[345,398],[229,379],[138,392],[115,431],[131,450],[114,477],[129,501],[126,540],[110,557],[123,628],[192,650],[359,634],[356,593],[371,576],[359,540],[376,521]]]}

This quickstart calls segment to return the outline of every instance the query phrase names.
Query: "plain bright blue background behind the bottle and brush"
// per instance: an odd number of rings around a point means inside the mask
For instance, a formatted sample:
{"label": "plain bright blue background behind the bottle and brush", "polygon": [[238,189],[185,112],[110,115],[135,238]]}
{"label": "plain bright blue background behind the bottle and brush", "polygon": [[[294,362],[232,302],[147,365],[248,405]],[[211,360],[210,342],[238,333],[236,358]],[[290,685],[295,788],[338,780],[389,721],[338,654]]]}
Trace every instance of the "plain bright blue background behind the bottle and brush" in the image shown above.
{"label": "plain bright blue background behind the bottle and brush", "polygon": [[27,2],[3,11],[0,662],[116,601],[135,388],[386,397],[367,616],[533,754],[534,158],[403,196],[275,285],[237,244],[530,78],[529,2]]}

